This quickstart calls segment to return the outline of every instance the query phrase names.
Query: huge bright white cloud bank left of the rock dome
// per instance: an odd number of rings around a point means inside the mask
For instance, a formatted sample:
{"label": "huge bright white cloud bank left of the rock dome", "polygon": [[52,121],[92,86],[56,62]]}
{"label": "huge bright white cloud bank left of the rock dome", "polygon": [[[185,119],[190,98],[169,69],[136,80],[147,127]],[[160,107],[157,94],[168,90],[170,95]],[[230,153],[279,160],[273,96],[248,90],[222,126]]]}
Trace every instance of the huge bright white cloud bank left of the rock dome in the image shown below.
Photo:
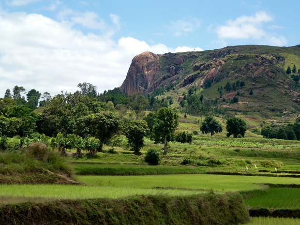
{"label": "huge bright white cloud bank left of the rock dome", "polygon": [[64,20],[5,12],[0,15],[0,43],[0,97],[15,85],[56,95],[61,90],[74,92],[78,83],[90,82],[102,92],[122,84],[135,55],[187,49],[148,45],[132,37],[116,43],[106,33],[83,34]]}

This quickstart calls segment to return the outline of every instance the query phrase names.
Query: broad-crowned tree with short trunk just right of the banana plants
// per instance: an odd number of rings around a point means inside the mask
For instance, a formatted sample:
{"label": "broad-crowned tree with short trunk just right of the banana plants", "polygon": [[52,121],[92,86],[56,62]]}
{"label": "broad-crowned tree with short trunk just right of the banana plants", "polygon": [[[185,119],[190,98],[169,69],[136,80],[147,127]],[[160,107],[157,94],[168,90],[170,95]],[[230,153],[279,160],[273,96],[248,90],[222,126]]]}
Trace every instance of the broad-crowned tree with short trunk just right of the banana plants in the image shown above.
{"label": "broad-crowned tree with short trunk just right of the banana plants", "polygon": [[75,133],[82,137],[94,136],[99,139],[99,150],[121,128],[121,120],[114,112],[101,112],[82,116],[75,121]]}

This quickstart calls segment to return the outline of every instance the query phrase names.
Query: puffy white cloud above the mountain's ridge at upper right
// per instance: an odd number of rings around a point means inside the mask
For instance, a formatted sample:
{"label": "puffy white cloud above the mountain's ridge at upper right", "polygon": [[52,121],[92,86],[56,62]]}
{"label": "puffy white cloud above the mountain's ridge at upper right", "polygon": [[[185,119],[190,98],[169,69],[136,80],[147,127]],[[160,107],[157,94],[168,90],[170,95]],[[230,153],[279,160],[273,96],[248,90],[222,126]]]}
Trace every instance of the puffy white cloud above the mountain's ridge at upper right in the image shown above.
{"label": "puffy white cloud above the mountain's ridge at upper right", "polygon": [[[273,21],[273,16],[266,12],[258,12],[251,16],[240,16],[236,20],[228,20],[226,25],[218,26],[216,32],[219,39],[254,39],[261,44],[269,45],[285,45],[287,40],[285,37],[278,37],[276,33],[268,33],[263,24]],[[270,26],[269,28],[277,28],[278,26]]]}

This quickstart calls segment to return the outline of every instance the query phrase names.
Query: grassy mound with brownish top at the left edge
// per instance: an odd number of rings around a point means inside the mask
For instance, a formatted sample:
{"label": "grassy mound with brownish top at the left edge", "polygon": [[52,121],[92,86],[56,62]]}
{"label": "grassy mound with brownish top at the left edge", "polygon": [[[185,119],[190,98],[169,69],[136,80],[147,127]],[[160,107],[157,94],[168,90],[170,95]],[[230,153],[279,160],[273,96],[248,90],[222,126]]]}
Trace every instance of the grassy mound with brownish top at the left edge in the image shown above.
{"label": "grassy mound with brownish top at the left edge", "polygon": [[0,152],[0,184],[79,184],[68,158],[32,143],[20,152]]}

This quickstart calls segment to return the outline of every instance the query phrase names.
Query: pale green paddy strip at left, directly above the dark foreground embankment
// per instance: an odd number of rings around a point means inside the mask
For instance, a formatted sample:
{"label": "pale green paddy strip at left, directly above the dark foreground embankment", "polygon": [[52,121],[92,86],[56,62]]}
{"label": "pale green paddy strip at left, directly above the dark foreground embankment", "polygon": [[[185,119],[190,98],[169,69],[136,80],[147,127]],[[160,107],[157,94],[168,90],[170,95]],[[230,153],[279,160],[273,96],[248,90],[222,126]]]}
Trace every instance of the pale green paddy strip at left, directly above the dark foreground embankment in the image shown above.
{"label": "pale green paddy strip at left, directly above the dark foreground embankment", "polygon": [[[15,202],[14,197],[45,197],[59,199],[83,199],[83,198],[122,198],[132,195],[169,195],[183,196],[204,193],[195,190],[160,190],[149,188],[126,187],[99,187],[84,185],[0,185],[0,202]],[[22,201],[22,199],[21,199]]]}

